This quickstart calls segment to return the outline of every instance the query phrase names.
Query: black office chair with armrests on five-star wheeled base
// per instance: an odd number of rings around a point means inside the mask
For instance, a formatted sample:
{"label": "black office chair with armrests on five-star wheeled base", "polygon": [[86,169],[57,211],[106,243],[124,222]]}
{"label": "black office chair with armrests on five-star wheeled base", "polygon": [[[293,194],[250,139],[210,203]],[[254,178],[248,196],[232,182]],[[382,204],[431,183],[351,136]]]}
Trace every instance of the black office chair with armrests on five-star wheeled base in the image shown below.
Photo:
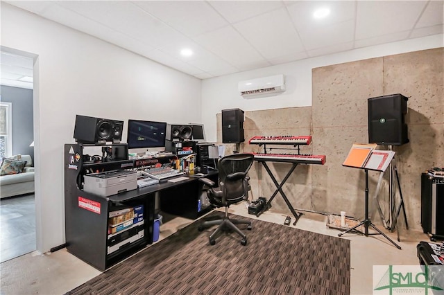
{"label": "black office chair with armrests on five-star wheeled base", "polygon": [[207,178],[200,178],[205,186],[203,190],[207,191],[208,199],[215,208],[225,207],[225,215],[221,220],[209,220],[202,222],[198,230],[219,224],[218,228],[210,235],[210,244],[216,244],[215,237],[221,231],[232,230],[238,233],[241,237],[241,244],[247,244],[247,236],[237,228],[235,224],[247,224],[247,229],[251,230],[251,222],[244,220],[230,220],[228,217],[228,206],[248,199],[248,184],[247,172],[253,165],[253,154],[230,154],[219,160],[219,186]]}

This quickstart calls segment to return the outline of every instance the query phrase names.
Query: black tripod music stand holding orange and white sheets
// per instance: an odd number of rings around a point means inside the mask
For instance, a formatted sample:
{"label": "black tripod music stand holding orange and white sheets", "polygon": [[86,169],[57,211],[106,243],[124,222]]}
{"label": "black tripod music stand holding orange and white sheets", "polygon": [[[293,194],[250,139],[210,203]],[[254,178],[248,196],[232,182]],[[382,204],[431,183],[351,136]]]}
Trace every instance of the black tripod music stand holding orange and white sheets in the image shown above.
{"label": "black tripod music stand holding orange and white sheets", "polygon": [[[348,229],[343,233],[339,233],[338,236],[341,237],[341,235],[348,233],[349,231],[358,231],[359,233],[362,233],[361,231],[357,230],[357,228],[361,225],[364,225],[364,233],[362,234],[364,234],[366,237],[368,237],[368,235],[377,235],[377,234],[383,235],[384,238],[386,238],[389,242],[394,244],[395,247],[401,249],[401,247],[398,244],[396,244],[395,242],[393,242],[393,240],[388,238],[388,236],[382,233],[382,231],[379,231],[379,229],[377,229],[377,227],[371,222],[370,218],[368,217],[368,170],[384,172],[395,154],[395,152],[393,151],[375,150],[375,147],[376,145],[372,144],[370,145],[359,144],[359,143],[353,144],[350,152],[348,153],[347,159],[345,159],[344,163],[342,164],[342,166],[345,167],[363,169],[364,172],[366,173],[365,219],[356,226],[353,226],[351,229]],[[377,233],[368,233],[369,226],[371,226],[372,229],[377,231]]]}

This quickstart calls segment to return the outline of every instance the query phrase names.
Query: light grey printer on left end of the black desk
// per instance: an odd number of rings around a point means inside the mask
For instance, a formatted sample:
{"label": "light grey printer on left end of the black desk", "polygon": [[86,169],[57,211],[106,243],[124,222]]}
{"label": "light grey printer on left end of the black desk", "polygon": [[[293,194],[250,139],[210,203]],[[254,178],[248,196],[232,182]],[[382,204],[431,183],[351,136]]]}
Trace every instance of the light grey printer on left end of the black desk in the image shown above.
{"label": "light grey printer on left end of the black desk", "polygon": [[111,170],[85,175],[83,190],[87,193],[108,197],[137,188],[137,172]]}

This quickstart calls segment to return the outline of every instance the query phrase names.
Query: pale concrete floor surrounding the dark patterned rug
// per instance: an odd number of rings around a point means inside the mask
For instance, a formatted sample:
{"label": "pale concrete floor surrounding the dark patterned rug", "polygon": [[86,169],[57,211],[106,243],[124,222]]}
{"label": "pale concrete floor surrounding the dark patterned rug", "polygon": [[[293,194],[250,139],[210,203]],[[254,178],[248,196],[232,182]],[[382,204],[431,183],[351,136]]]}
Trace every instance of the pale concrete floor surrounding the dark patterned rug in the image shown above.
{"label": "pale concrete floor surrounding the dark patterned rug", "polygon": [[[266,213],[255,217],[248,215],[246,203],[230,207],[230,213],[257,218],[267,222],[283,224],[287,215]],[[291,222],[293,226],[294,218]],[[176,217],[162,224],[160,227],[160,240],[178,229],[187,226],[193,220]],[[339,230],[326,226],[327,216],[304,213],[296,224],[298,229],[314,231],[325,235],[337,236]],[[418,265],[416,245],[421,240],[429,240],[422,232],[401,231],[400,240],[397,241],[396,233],[390,233],[382,226],[378,226],[393,241],[398,243],[402,250],[397,249],[382,235],[358,235],[347,233],[341,238],[351,241],[351,294],[373,293],[373,265]],[[253,224],[253,230],[255,229]],[[248,234],[248,233],[247,233]],[[309,242],[309,241],[307,241]],[[248,245],[251,246],[251,245]],[[297,255],[298,249],[294,249]],[[137,253],[135,254],[137,255]],[[322,253],[319,253],[322,255]],[[87,265],[82,260],[72,256],[61,249],[54,253],[37,253],[36,251],[24,256],[1,263],[1,287],[0,294],[65,294],[78,285],[85,283],[90,278],[101,274],[100,271]]]}

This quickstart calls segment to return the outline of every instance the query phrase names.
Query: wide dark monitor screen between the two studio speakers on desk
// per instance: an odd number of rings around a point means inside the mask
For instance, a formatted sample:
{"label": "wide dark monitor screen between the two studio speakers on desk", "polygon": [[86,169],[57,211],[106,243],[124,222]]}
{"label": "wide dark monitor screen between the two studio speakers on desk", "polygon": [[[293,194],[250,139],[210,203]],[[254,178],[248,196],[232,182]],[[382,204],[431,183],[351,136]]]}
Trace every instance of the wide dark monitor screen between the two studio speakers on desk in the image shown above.
{"label": "wide dark monitor screen between the two studio speakers on desk", "polygon": [[164,147],[166,122],[128,120],[128,148]]}

